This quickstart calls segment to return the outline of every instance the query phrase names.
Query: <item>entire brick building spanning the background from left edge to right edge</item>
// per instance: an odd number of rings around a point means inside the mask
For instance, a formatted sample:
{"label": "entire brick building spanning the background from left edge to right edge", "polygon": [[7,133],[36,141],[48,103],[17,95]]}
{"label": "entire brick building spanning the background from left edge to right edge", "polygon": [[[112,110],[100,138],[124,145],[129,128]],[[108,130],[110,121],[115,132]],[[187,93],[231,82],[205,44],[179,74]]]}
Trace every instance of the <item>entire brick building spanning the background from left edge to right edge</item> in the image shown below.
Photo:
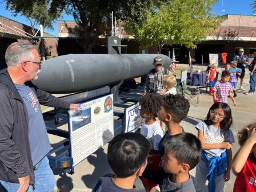
{"label": "entire brick building spanning the background from left edge to right edge", "polygon": [[[190,50],[191,57],[197,63],[209,63],[210,53],[227,53],[227,60],[230,61],[239,48],[245,49],[245,54],[253,58],[256,50],[256,17],[254,15],[223,15],[224,21],[213,31],[212,34],[202,39],[197,45],[197,49]],[[6,27],[7,26],[7,27]],[[79,38],[69,33],[67,27],[77,27],[74,21],[58,21],[58,37],[44,33],[46,55],[63,55],[69,53],[83,53],[79,46]],[[22,30],[22,31],[21,31]],[[40,32],[37,37],[30,37],[29,26],[0,16],[0,62],[5,63],[4,54],[8,45],[12,42],[33,42],[33,39],[42,38]],[[157,47],[143,47],[134,39],[129,39],[123,27],[119,28],[119,37],[122,38],[122,53],[157,53]],[[98,46],[93,49],[93,53],[107,53],[106,39],[100,38]],[[186,62],[189,50],[185,46],[173,45],[164,46],[162,54],[169,55],[169,51],[175,50],[175,57],[178,61]],[[0,65],[0,68],[1,68]]]}

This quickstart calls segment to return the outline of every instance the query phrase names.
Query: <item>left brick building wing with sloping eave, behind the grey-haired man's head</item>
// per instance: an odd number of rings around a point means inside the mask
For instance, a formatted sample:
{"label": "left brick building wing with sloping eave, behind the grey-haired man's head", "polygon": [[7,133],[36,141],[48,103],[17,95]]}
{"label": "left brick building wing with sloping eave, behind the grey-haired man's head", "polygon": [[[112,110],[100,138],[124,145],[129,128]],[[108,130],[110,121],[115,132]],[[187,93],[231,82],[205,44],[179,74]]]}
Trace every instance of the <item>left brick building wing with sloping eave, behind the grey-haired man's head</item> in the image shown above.
{"label": "left brick building wing with sloping eave, behind the grey-haired man's head", "polygon": [[[35,29],[37,31],[37,29]],[[5,51],[13,42],[35,43],[41,37],[40,31],[33,37],[31,27],[0,15],[0,69],[6,67]],[[43,34],[45,55],[57,55],[58,37]]]}

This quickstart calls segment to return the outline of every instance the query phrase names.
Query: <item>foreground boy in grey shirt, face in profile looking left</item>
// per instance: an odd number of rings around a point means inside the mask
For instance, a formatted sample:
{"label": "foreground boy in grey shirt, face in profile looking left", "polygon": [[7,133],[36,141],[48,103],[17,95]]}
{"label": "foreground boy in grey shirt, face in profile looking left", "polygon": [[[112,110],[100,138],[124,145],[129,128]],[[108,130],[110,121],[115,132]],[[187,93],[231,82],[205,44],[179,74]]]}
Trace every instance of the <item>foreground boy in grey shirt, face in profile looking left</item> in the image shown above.
{"label": "foreground boy in grey shirt, face in profile looking left", "polygon": [[168,175],[163,181],[162,191],[195,192],[189,171],[202,157],[201,141],[191,133],[182,133],[166,138],[163,146],[165,155],[162,157],[162,166]]}

